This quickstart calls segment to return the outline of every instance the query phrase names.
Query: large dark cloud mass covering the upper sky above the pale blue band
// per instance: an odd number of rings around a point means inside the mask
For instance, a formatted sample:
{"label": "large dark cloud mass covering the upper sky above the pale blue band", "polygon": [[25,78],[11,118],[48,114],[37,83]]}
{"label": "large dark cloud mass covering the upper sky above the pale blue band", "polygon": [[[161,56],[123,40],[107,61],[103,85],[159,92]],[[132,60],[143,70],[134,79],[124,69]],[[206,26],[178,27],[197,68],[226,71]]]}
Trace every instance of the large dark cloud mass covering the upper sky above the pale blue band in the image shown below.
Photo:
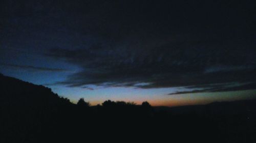
{"label": "large dark cloud mass covering the upper sky above the pale blue band", "polygon": [[12,4],[3,7],[4,40],[23,35],[44,45],[47,58],[81,68],[57,84],[148,89],[256,81],[250,1]]}

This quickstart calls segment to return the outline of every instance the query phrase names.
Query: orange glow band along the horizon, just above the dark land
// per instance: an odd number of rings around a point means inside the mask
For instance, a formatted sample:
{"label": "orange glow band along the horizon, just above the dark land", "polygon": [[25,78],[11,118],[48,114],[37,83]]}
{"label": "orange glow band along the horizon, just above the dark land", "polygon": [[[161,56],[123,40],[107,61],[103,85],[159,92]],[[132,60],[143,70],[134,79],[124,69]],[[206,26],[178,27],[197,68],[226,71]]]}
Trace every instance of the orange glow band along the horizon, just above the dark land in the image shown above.
{"label": "orange glow band along the horizon, just above the dark land", "polygon": [[[193,94],[181,94],[172,96],[160,96],[159,99],[139,99],[139,100],[112,100],[112,101],[125,101],[134,102],[137,105],[141,105],[143,101],[149,102],[152,106],[184,106],[184,105],[199,105],[208,104],[216,101],[235,101],[235,100],[246,100],[256,99],[254,93],[256,90],[246,91],[232,91],[232,92],[216,92],[216,93],[193,93]],[[111,99],[109,99],[111,100]],[[103,103],[105,100],[93,100],[89,101],[92,106]],[[76,103],[77,101],[72,101]]]}

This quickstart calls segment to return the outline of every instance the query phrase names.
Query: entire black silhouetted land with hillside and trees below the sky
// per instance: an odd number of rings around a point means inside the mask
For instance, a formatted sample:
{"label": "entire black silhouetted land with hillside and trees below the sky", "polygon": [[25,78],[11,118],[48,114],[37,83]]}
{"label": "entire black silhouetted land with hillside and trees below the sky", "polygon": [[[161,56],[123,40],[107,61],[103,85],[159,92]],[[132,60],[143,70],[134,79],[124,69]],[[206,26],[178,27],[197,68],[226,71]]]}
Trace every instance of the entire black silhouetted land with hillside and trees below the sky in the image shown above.
{"label": "entire black silhouetted land with hillside and trees below the sky", "polygon": [[0,142],[256,142],[256,101],[151,107],[73,104],[0,75]]}

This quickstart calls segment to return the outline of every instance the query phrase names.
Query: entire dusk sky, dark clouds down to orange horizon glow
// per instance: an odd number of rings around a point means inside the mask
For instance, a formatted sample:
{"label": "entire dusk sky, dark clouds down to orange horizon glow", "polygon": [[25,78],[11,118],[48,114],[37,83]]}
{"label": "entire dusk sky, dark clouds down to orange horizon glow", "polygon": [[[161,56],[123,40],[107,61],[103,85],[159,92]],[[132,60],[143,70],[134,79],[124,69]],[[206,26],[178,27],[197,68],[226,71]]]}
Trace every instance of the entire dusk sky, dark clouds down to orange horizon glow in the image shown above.
{"label": "entire dusk sky, dark clouds down to orange horizon glow", "polygon": [[254,99],[253,1],[0,2],[0,72],[76,103]]}

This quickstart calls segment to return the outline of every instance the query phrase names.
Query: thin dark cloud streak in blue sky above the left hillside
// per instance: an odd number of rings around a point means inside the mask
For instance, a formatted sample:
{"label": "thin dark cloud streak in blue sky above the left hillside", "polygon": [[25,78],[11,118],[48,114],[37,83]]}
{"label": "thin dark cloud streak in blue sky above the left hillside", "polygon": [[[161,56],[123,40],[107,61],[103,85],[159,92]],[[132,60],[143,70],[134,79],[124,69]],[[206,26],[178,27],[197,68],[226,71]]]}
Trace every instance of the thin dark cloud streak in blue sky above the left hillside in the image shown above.
{"label": "thin dark cloud streak in blue sky above the left hillside", "polygon": [[34,66],[27,66],[27,65],[12,65],[12,64],[1,64],[1,65],[15,68],[15,69],[24,69],[24,70],[32,70],[32,71],[45,71],[45,72],[66,72],[67,71],[65,69],[34,67]]}

